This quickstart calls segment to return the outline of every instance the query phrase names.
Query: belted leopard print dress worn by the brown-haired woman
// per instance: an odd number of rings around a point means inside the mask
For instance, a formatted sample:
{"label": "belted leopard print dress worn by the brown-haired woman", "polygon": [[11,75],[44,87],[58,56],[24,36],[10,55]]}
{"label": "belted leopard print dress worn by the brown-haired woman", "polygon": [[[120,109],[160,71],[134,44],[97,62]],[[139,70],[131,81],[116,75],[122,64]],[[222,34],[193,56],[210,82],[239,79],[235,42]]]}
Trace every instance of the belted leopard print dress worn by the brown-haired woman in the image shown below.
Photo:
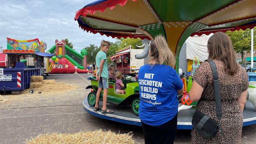
{"label": "belted leopard print dress worn by the brown-haired woman", "polygon": [[212,71],[209,62],[203,62],[193,76],[204,91],[197,109],[218,122],[222,128],[222,134],[217,133],[214,138],[205,138],[195,129],[191,132],[192,144],[241,144],[243,115],[236,101],[242,92],[248,88],[248,75],[240,65],[238,72],[231,76],[225,72],[224,63],[221,60],[213,60],[219,75],[220,98],[232,99],[232,102],[221,102],[222,118],[216,117],[215,96]]}

